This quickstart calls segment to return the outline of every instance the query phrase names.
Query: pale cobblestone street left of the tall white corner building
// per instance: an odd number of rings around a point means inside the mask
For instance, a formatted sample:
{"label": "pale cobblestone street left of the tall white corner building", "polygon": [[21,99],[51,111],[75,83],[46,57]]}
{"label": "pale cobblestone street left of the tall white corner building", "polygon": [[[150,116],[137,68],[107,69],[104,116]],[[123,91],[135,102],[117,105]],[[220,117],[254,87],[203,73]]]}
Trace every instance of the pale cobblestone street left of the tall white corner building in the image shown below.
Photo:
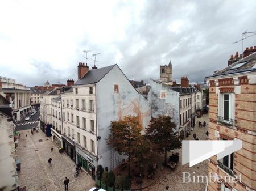
{"label": "pale cobblestone street left of the tall white corner building", "polygon": [[[20,188],[26,186],[27,191],[59,191],[64,190],[63,181],[70,180],[69,190],[85,191],[95,185],[90,175],[82,172],[75,178],[75,163],[65,153],[60,154],[51,138],[39,130],[31,135],[30,130],[19,131],[17,155],[21,160],[21,172],[18,173]],[[26,137],[27,134],[27,137]],[[42,139],[42,142],[39,140]],[[54,148],[51,152],[51,147]],[[48,167],[48,159],[52,158],[52,167]]]}

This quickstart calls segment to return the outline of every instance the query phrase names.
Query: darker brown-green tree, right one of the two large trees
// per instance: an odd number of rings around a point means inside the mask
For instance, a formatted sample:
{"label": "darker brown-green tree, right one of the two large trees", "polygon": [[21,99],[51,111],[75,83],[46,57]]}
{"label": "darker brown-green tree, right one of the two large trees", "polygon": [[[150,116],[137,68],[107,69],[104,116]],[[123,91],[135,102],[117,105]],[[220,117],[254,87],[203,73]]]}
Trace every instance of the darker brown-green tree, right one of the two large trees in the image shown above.
{"label": "darker brown-green tree, right one of the two large trees", "polygon": [[166,163],[167,151],[181,147],[179,137],[174,133],[176,125],[170,116],[159,116],[150,120],[149,128],[146,129],[146,137],[157,147],[159,153],[164,152]]}

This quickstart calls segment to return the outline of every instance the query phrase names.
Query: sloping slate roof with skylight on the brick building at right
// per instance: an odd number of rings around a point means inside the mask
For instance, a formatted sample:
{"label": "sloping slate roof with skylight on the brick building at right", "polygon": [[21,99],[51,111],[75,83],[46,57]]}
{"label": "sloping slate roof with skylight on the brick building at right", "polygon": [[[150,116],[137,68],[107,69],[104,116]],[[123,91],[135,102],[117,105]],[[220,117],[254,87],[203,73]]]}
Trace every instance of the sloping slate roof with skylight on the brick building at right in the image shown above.
{"label": "sloping slate roof with skylight on the brick building at right", "polygon": [[[232,67],[242,62],[246,62],[246,63],[241,67],[238,67],[237,69],[232,69]],[[225,67],[225,69],[217,71],[216,73],[214,73],[213,75],[210,75],[209,77],[217,77],[218,75],[226,75],[226,74],[236,74],[236,73],[241,73],[245,71],[256,71],[256,52],[253,54],[250,54],[245,58],[242,58],[237,62],[232,63],[232,65],[229,65],[228,67]]]}

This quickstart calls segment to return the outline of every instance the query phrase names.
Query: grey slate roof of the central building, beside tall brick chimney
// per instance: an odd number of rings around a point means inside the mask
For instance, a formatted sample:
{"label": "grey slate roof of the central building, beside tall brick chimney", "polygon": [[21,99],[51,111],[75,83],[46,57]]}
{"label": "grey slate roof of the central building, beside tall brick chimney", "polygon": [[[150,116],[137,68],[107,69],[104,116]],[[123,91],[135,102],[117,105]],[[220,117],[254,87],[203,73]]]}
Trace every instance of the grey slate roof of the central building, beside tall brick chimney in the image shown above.
{"label": "grey slate roof of the central building, beside tall brick chimney", "polygon": [[100,80],[113,69],[115,65],[101,67],[100,69],[89,70],[81,79],[77,80],[74,85],[92,84],[100,82]]}

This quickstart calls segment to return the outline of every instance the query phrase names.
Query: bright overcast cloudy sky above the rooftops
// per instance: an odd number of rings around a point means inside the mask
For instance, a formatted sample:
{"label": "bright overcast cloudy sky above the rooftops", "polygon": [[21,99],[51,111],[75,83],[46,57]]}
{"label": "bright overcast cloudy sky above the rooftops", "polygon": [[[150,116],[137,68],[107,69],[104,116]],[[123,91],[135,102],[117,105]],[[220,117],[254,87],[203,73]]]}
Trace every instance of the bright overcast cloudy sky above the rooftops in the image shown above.
{"label": "bright overcast cloudy sky above the rooftops", "polygon": [[[97,67],[117,63],[127,78],[190,82],[242,52],[242,32],[256,31],[256,1],[1,1],[0,75],[26,86],[77,80],[83,50]],[[249,35],[247,35],[249,36]],[[256,45],[256,35],[245,40]]]}

